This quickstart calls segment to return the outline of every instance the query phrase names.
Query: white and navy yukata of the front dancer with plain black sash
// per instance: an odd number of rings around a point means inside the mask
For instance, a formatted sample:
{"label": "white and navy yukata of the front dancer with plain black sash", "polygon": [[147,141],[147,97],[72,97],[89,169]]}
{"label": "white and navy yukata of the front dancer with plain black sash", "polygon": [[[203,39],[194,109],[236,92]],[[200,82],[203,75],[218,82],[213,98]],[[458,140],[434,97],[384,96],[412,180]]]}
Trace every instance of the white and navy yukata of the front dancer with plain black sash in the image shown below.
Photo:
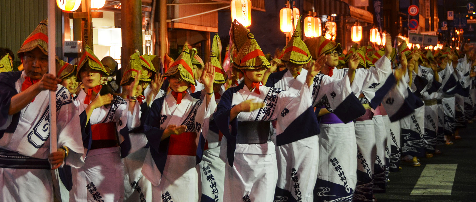
{"label": "white and navy yukata of the front dancer with plain black sash", "polygon": [[[271,127],[269,121],[276,120],[277,145],[289,144],[318,133],[317,120],[310,108],[311,92],[307,85],[301,86],[300,96],[266,86],[260,86],[259,92],[260,94],[257,94],[255,88],[250,91],[244,83],[231,87],[221,96],[214,114],[215,123],[224,135],[220,158],[227,163],[223,196],[225,202],[273,202],[278,181],[275,143],[270,139],[263,140],[260,144],[237,143],[238,130],[245,130],[239,128],[238,124],[259,122],[261,127]],[[240,112],[230,121],[232,106],[245,100],[264,102],[265,107],[251,112]],[[231,131],[228,127],[230,124]],[[257,129],[267,130],[259,127]],[[272,135],[271,129],[268,134],[268,137]],[[299,178],[308,177],[301,176],[297,171],[292,175],[293,179],[296,179],[293,181],[294,185],[298,183]],[[300,187],[295,186],[293,192],[301,192]]]}

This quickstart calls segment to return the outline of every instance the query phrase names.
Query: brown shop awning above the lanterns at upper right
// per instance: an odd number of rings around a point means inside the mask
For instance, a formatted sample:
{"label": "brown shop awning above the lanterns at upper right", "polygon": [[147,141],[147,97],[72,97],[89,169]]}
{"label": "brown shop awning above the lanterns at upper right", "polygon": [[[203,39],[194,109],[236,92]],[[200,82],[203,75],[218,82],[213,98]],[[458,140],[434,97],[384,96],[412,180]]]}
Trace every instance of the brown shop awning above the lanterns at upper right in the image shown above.
{"label": "brown shop awning above the lanterns at upper right", "polygon": [[317,0],[315,9],[318,15],[347,16],[362,22],[374,23],[374,15],[367,10],[350,6],[340,0]]}

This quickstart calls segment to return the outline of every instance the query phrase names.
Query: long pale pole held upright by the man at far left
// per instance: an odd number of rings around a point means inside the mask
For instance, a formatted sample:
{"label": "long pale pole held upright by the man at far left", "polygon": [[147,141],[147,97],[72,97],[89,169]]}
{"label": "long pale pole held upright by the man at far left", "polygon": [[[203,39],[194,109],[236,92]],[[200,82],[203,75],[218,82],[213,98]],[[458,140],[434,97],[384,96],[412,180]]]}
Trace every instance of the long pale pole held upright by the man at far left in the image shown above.
{"label": "long pale pole held upright by the man at far left", "polygon": [[[48,2],[48,73],[56,77],[56,1]],[[56,152],[57,147],[56,130],[56,91],[50,91],[50,153]]]}

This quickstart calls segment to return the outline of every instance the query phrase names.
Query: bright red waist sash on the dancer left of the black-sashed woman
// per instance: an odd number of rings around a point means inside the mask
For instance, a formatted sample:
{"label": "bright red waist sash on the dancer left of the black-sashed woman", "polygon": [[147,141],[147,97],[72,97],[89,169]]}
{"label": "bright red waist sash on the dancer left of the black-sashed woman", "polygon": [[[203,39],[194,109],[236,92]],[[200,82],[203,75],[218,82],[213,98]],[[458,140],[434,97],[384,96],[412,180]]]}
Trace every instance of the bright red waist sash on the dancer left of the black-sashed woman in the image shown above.
{"label": "bright red waist sash on the dancer left of the black-sashed woman", "polygon": [[170,135],[168,155],[197,155],[197,133],[188,132],[180,135]]}

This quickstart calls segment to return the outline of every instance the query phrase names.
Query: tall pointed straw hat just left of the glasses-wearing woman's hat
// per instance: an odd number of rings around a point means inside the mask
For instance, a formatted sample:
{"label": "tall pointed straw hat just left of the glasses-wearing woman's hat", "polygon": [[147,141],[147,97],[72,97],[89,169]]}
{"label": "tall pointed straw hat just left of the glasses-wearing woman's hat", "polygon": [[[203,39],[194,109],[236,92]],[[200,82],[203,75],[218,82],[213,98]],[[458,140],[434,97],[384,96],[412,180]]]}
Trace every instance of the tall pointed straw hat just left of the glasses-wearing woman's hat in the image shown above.
{"label": "tall pointed straw hat just left of the glasses-wearing woman's hat", "polygon": [[307,64],[311,59],[311,53],[304,41],[301,40],[301,18],[297,20],[294,34],[279,59],[283,63],[292,62],[295,64]]}

